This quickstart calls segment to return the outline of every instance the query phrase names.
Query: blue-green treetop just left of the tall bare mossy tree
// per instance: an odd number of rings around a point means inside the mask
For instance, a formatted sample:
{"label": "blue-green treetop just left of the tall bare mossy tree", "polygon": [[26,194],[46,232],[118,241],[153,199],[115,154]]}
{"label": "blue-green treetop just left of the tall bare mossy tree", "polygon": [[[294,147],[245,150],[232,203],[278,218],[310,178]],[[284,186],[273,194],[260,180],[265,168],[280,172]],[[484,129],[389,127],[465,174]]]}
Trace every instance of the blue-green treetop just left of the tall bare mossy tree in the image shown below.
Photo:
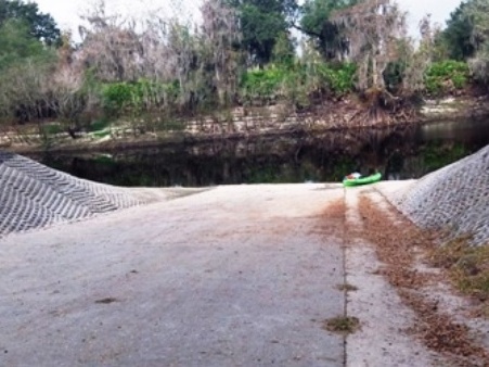
{"label": "blue-green treetop just left of the tall bare mossy tree", "polygon": [[348,37],[342,24],[332,21],[335,11],[357,4],[359,0],[307,0],[301,8],[299,30],[314,40],[327,60],[342,60],[349,51]]}

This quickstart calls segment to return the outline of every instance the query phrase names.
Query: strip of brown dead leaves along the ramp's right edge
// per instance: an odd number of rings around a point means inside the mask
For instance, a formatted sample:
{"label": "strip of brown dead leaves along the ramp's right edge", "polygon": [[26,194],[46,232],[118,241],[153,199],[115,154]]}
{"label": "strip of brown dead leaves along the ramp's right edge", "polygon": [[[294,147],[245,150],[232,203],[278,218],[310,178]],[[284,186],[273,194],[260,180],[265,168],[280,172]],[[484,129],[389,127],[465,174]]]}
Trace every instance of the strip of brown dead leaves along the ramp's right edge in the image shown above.
{"label": "strip of brown dead leaves along the ramp's right edge", "polygon": [[453,316],[440,311],[436,301],[428,300],[420,290],[443,282],[445,271],[426,273],[415,268],[419,258],[425,258],[437,249],[435,233],[423,232],[398,212],[382,211],[365,195],[360,198],[360,215],[364,229],[362,237],[371,241],[378,258],[385,264],[378,270],[397,288],[402,301],[416,315],[411,331],[432,350],[450,356],[461,366],[489,366],[488,352],[475,341],[467,326],[453,321]]}

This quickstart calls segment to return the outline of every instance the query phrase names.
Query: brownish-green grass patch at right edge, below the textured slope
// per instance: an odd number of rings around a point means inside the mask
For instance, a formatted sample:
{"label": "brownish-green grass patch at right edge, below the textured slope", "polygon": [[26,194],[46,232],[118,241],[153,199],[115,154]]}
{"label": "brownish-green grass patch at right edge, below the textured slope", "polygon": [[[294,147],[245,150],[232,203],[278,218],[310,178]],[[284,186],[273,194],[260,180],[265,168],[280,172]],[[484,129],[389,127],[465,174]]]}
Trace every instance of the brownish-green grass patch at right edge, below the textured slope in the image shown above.
{"label": "brownish-green grass patch at right edge, below the textured slope", "polygon": [[432,262],[449,270],[456,288],[482,302],[489,301],[489,246],[471,245],[471,236],[453,239],[435,250]]}

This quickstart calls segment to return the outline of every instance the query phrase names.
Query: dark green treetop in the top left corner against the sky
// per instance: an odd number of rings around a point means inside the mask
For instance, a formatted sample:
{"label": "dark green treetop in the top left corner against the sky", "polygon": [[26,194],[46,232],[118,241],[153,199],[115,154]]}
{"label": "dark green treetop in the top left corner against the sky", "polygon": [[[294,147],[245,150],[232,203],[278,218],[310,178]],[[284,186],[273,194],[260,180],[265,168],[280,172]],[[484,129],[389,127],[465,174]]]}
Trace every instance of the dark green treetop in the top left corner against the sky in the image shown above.
{"label": "dark green treetop in the top left corner against the sky", "polygon": [[50,14],[40,13],[35,2],[0,0],[0,25],[12,18],[24,22],[30,35],[46,45],[59,45],[61,41],[61,31],[53,17]]}

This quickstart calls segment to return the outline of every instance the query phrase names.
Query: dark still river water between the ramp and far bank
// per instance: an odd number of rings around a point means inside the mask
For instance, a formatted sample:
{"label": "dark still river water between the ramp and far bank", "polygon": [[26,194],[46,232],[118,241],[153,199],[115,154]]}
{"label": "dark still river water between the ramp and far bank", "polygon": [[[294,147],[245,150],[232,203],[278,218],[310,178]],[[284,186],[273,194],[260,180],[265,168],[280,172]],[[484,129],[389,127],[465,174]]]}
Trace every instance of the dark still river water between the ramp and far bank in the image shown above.
{"label": "dark still river water between the ramp and far bank", "polygon": [[377,169],[385,179],[417,178],[487,144],[489,119],[33,157],[106,184],[202,187],[339,181]]}

